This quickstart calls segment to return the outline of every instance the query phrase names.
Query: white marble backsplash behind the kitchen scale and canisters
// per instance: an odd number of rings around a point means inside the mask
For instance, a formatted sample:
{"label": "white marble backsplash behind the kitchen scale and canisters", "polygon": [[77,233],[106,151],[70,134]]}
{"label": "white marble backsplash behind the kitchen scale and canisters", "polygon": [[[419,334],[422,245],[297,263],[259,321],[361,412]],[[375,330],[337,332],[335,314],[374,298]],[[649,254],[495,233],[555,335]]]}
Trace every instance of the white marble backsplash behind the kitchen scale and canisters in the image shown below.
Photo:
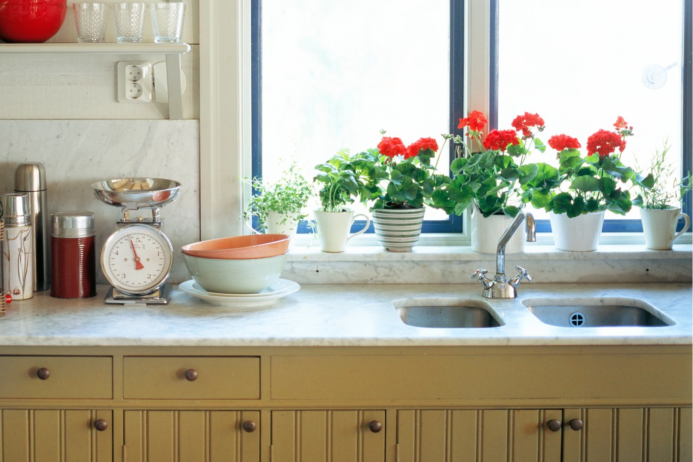
{"label": "white marble backsplash behind the kitchen scale and canisters", "polygon": [[[197,120],[2,120],[0,192],[14,190],[17,164],[42,162],[49,212],[94,212],[100,252],[121,212],[94,196],[93,182],[127,176],[176,180],[180,196],[161,209],[161,218],[178,255],[186,243],[200,240],[199,140]],[[105,283],[100,269],[96,277]],[[188,279],[183,259],[174,257],[171,280]]]}

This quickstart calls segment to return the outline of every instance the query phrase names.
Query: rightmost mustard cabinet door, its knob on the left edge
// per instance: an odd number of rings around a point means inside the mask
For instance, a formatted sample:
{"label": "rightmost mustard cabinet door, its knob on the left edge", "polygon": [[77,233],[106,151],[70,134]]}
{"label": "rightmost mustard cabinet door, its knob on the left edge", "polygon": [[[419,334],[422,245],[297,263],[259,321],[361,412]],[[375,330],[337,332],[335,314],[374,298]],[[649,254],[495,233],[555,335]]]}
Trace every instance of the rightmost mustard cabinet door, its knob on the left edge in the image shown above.
{"label": "rightmost mustard cabinet door, its knob on the left edge", "polygon": [[[563,461],[690,461],[690,408],[565,409]],[[583,423],[574,431],[573,419]]]}

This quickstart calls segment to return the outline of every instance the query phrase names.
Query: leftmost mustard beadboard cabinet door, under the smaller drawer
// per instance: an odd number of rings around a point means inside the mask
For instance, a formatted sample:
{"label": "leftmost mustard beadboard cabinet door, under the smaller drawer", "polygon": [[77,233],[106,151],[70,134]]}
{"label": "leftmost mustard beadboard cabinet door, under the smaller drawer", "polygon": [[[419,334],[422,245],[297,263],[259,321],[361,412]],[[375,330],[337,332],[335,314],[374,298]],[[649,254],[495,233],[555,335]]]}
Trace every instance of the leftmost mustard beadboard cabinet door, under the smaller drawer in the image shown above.
{"label": "leftmost mustard beadboard cabinet door, under the smaller drawer", "polygon": [[112,461],[112,416],[82,409],[2,409],[0,462]]}

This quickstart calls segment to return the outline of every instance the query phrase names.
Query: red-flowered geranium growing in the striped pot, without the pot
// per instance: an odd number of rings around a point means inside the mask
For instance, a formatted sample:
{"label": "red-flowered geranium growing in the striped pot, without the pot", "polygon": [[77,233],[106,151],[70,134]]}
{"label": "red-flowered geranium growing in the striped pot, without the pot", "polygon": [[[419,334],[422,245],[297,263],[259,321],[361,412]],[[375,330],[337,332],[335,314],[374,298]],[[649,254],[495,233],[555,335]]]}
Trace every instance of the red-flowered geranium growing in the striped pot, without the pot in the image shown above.
{"label": "red-flowered geranium growing in the striped pot, without the pot", "polygon": [[[382,132],[383,134],[385,132]],[[443,135],[443,150],[450,135]],[[356,161],[375,209],[416,209],[423,204],[445,209],[454,207],[445,191],[450,177],[437,173],[432,159],[438,143],[433,138],[420,138],[405,146],[401,138],[383,137],[376,149],[361,154]]]}

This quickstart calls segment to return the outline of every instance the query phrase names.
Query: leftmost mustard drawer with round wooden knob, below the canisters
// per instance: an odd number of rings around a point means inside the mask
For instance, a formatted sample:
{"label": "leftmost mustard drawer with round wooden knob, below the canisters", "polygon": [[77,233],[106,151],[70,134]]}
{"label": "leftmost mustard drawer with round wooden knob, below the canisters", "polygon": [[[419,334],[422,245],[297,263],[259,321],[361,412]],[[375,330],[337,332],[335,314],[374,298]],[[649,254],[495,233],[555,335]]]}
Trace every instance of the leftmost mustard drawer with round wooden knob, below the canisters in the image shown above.
{"label": "leftmost mustard drawer with round wooden knob, below the canisters", "polygon": [[0,398],[110,399],[112,366],[111,357],[0,356]]}

